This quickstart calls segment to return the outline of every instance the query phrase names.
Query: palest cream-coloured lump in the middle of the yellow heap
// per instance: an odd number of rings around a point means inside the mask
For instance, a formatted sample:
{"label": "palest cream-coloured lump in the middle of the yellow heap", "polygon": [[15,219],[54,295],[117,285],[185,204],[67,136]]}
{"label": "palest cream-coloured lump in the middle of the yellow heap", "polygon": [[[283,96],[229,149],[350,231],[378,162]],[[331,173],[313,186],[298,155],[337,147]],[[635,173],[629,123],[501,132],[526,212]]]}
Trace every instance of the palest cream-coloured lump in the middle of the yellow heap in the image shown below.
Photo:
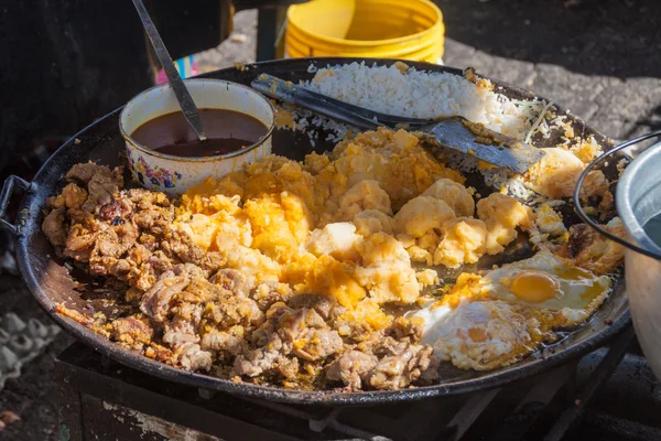
{"label": "palest cream-coloured lump in the middle of the yellow heap", "polygon": [[315,229],[310,234],[305,248],[313,255],[321,257],[333,256],[337,260],[358,260],[356,244],[361,239],[356,234],[356,227],[348,222],[327,224],[323,229]]}

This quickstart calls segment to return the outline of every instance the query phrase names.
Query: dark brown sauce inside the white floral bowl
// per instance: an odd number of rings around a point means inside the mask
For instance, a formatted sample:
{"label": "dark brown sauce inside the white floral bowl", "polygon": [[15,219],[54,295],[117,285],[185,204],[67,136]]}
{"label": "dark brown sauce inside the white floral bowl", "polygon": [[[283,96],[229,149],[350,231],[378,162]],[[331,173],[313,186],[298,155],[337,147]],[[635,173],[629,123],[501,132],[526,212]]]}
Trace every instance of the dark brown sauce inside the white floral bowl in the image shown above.
{"label": "dark brown sauce inside the white floral bowl", "polygon": [[199,158],[227,154],[259,141],[268,128],[257,118],[226,109],[199,109],[207,139],[199,141],[181,111],[138,127],[131,138],[160,153]]}

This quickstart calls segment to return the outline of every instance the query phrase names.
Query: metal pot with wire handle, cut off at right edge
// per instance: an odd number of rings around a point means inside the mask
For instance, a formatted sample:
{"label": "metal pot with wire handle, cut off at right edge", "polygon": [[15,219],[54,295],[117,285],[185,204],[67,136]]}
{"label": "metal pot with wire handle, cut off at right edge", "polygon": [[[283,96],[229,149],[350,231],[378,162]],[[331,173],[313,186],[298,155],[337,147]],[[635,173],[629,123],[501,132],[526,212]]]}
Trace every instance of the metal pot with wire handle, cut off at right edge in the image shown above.
{"label": "metal pot with wire handle, cut off at right edge", "polygon": [[615,201],[628,237],[614,236],[594,223],[581,207],[578,194],[584,178],[595,164],[616,151],[660,136],[661,131],[652,132],[604,153],[585,169],[574,193],[578,215],[603,235],[627,247],[625,280],[633,327],[658,378],[661,378],[661,246],[649,237],[643,225],[661,213],[661,143],[633,159],[618,181]]}

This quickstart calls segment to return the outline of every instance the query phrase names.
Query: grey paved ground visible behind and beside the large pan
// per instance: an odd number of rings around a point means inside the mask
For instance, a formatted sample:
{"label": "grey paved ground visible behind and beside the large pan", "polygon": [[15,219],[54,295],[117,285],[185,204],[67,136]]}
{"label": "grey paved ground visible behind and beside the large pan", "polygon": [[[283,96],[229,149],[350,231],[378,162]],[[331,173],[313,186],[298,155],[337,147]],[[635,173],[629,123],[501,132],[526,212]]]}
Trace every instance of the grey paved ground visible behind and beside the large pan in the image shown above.
{"label": "grey paved ground visible behind and beside the large pan", "polygon": [[[556,101],[614,139],[661,129],[661,4],[657,0],[438,0],[444,62],[474,66]],[[203,72],[254,61],[257,11],[196,55]],[[0,276],[0,313],[48,321],[15,276]],[[0,410],[21,417],[0,440],[57,439],[53,363],[72,342],[62,333],[0,391]]]}

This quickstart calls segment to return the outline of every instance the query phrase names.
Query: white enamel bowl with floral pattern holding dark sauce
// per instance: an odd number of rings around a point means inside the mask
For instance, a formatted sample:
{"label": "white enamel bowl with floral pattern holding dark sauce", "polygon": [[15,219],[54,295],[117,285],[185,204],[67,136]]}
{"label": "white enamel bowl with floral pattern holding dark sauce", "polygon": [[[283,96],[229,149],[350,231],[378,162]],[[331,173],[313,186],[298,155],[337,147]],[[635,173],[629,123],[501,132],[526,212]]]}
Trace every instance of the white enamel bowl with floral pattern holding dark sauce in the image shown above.
{"label": "white enamel bowl with floral pattern holding dark sauce", "polygon": [[198,109],[227,109],[261,121],[267,133],[241,150],[215,157],[182,158],[159,153],[138,143],[131,133],[147,121],[181,111],[169,84],[152,87],[131,99],[119,117],[119,130],[127,143],[129,166],[140,184],[150,190],[182,194],[208,176],[219,178],[271,153],[274,112],[271,103],[243,85],[207,78],[184,83]]}

